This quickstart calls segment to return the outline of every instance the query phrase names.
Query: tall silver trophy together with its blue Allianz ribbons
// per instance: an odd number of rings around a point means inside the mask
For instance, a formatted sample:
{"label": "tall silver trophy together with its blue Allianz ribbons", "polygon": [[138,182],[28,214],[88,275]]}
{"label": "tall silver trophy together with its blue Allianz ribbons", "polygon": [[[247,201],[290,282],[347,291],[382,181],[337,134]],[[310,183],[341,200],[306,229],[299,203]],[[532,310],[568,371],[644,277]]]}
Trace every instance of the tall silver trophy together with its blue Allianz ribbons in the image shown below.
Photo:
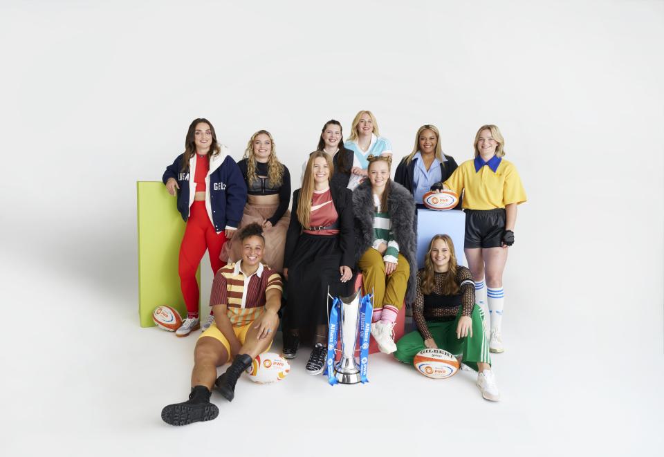
{"label": "tall silver trophy together with its blue Allianz ribbons", "polygon": [[[371,314],[374,310],[373,298],[373,295],[362,295],[358,290],[351,297],[335,297],[332,301],[325,361],[330,385],[369,382],[367,364],[369,362]],[[355,357],[358,332],[360,335],[359,366]],[[338,337],[341,341],[341,359],[335,363]]]}

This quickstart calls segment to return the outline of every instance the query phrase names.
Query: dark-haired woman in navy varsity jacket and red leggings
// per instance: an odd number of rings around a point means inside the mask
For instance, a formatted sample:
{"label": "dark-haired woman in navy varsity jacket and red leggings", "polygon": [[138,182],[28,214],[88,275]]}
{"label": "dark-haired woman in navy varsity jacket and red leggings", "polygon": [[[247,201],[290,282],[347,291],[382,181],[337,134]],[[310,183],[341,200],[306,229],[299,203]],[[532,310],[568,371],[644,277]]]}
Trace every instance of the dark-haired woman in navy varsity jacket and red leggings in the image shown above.
{"label": "dark-haired woman in navy varsity jacket and red leggings", "polygon": [[[185,337],[199,328],[199,285],[196,270],[207,249],[212,273],[223,266],[219,253],[239,227],[247,186],[227,147],[216,142],[210,121],[195,119],[189,126],[185,152],[166,167],[162,178],[169,194],[177,193],[178,211],[187,223],[180,245],[178,274],[187,306],[187,319],[176,330]],[[214,317],[203,327],[208,328]]]}

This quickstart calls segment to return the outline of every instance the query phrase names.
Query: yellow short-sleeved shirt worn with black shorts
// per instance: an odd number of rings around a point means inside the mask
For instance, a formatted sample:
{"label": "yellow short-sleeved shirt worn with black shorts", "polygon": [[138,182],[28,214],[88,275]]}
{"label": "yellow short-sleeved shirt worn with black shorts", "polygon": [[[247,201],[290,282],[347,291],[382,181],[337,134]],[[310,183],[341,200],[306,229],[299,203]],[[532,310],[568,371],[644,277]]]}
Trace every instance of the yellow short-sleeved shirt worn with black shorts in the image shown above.
{"label": "yellow short-sleeved shirt worn with black shorts", "polygon": [[519,205],[526,201],[517,168],[504,158],[495,173],[488,166],[475,171],[474,161],[466,160],[444,184],[459,196],[463,191],[463,209],[504,208],[510,203]]}

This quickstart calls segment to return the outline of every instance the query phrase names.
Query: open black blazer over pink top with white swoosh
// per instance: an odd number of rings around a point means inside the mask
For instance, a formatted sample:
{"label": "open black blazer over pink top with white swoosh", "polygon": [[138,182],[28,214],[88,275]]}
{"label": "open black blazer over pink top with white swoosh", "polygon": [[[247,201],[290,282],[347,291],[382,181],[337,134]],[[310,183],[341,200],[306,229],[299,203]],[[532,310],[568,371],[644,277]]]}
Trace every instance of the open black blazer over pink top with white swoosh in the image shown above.
{"label": "open black blazer over pink top with white swoosh", "polygon": [[[291,263],[297,240],[302,233],[302,224],[297,218],[297,200],[299,190],[293,192],[293,209],[291,209],[291,224],[286,232],[286,249],[284,252],[284,268]],[[330,186],[332,203],[339,215],[339,248],[341,250],[340,267],[355,268],[353,262],[353,245],[355,245],[355,232],[353,231],[353,194],[346,187]]]}

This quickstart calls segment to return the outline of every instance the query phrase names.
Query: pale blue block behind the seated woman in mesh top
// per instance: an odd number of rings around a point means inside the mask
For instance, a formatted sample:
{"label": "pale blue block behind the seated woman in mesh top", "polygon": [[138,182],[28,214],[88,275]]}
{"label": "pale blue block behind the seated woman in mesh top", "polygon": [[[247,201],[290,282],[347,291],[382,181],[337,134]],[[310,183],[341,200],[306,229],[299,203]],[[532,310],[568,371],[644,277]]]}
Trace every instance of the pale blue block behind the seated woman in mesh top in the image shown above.
{"label": "pale blue block behind the seated woman in mesh top", "polygon": [[437,234],[448,234],[454,243],[459,265],[468,266],[463,254],[465,239],[465,213],[461,209],[436,211],[421,208],[417,210],[417,268],[424,268],[424,257],[427,254],[429,241]]}

